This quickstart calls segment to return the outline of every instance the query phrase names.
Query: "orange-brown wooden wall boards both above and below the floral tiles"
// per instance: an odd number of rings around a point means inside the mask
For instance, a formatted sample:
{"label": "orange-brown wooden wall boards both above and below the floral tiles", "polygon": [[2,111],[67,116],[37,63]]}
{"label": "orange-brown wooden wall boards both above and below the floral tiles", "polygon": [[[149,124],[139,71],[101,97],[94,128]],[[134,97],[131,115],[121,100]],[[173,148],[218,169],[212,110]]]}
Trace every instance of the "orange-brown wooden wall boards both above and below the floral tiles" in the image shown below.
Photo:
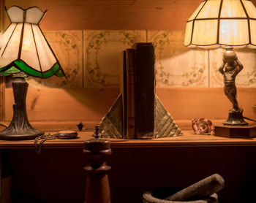
{"label": "orange-brown wooden wall boards both above and below the floral tiles", "polygon": [[[3,2],[3,0],[0,0]],[[48,9],[42,22],[43,30],[73,29],[148,29],[184,30],[189,15],[200,0],[6,0],[10,7],[38,6]],[[256,0],[252,1],[254,4]],[[4,19],[4,18],[1,18]],[[5,23],[8,25],[9,23]],[[3,96],[3,86],[1,86]],[[162,88],[159,98],[175,120],[208,117],[225,119],[230,104],[222,88]],[[28,115],[32,121],[95,120],[99,122],[113,104],[118,90],[94,91],[77,89],[29,88]],[[6,91],[6,119],[12,118],[12,90]],[[243,98],[243,100],[241,100]],[[238,100],[247,117],[255,117],[251,105],[255,104],[255,88],[241,88]],[[1,107],[1,110],[4,110]],[[0,112],[0,116],[3,112]],[[0,117],[1,118],[1,117]]]}

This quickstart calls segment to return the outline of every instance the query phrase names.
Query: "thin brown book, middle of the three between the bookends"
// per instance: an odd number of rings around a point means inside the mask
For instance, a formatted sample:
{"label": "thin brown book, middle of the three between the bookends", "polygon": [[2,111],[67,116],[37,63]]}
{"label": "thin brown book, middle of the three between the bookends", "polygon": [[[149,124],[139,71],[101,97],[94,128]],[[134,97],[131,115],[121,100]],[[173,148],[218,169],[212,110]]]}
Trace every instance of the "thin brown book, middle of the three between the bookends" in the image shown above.
{"label": "thin brown book, middle of the three between the bookends", "polygon": [[126,138],[135,139],[135,49],[126,50],[127,114]]}

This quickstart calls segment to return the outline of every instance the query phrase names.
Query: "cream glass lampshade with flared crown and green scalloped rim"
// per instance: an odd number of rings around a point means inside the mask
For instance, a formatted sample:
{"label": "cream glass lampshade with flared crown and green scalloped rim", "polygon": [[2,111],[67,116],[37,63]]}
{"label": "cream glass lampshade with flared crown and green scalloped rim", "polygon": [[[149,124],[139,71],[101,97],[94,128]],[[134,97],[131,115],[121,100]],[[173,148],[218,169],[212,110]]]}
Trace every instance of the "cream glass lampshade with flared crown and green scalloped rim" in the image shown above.
{"label": "cream glass lampshade with flared crown and green scalloped rim", "polygon": [[62,77],[64,71],[39,28],[45,16],[38,7],[10,7],[11,24],[0,37],[0,75],[26,72],[31,76]]}

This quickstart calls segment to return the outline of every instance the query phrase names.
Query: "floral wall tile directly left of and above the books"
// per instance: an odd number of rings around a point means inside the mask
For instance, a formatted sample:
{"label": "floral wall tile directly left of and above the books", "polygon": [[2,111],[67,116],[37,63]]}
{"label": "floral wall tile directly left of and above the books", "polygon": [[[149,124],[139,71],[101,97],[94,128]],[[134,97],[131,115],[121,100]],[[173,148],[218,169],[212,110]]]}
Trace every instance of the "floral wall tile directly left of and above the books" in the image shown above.
{"label": "floral wall tile directly left of and above the books", "polygon": [[146,42],[146,31],[84,31],[84,87],[118,87],[123,51]]}

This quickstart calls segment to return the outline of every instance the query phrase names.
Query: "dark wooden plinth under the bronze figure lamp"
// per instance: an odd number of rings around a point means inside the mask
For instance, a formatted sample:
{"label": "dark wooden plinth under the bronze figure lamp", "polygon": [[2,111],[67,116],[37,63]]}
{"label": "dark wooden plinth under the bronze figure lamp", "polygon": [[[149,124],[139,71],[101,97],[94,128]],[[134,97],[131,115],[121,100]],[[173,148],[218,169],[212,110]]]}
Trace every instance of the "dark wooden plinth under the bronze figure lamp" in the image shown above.
{"label": "dark wooden plinth under the bronze figure lamp", "polygon": [[230,138],[256,137],[256,125],[230,126],[223,124],[214,125],[214,136]]}

